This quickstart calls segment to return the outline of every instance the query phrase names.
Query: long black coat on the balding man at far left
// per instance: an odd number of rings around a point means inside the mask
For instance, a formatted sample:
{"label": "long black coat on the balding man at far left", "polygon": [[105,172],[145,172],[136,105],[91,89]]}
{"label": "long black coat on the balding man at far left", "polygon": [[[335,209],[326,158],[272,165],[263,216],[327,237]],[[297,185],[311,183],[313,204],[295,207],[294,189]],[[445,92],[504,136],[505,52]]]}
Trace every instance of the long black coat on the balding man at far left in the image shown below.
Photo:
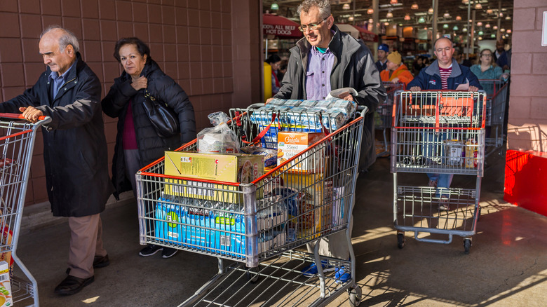
{"label": "long black coat on the balding man at far left", "polygon": [[0,112],[36,107],[52,121],[42,129],[46,186],[55,217],[100,213],[112,193],[102,121],[101,84],[76,53],[76,64],[53,98],[48,67],[32,88],[0,104]]}

